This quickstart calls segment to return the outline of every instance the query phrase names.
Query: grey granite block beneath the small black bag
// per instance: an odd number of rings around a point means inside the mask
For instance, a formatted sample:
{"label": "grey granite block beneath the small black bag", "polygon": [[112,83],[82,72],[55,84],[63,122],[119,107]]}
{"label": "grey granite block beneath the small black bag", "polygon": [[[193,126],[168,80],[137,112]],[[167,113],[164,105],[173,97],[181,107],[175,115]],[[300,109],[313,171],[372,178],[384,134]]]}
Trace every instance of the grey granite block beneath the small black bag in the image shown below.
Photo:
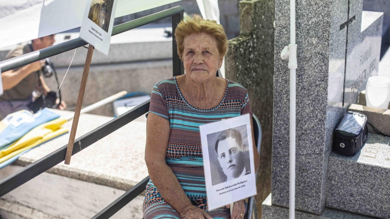
{"label": "grey granite block beneath the small black bag", "polygon": [[390,218],[390,138],[369,133],[352,157],[329,158],[326,206],[382,219]]}

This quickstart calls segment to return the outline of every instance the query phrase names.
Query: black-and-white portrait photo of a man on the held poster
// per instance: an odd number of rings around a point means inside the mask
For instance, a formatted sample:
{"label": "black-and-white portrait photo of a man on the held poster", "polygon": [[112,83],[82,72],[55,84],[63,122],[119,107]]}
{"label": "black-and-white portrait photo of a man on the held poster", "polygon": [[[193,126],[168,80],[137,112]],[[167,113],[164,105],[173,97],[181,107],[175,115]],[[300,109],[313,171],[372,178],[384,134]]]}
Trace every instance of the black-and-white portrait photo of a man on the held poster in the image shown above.
{"label": "black-and-white portrait photo of a man on the held poster", "polygon": [[247,126],[239,126],[207,135],[213,185],[251,173]]}

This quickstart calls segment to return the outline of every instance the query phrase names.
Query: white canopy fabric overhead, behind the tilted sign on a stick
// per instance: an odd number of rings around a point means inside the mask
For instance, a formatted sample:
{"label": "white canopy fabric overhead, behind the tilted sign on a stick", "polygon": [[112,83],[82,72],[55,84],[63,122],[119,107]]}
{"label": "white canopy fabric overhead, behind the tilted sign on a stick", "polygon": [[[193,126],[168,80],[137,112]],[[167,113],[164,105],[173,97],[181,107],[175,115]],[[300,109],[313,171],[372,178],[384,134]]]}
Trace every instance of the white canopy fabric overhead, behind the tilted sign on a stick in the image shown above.
{"label": "white canopy fabric overhead, behind the tilted sign on a stick", "polygon": [[[122,17],[179,0],[118,0]],[[1,0],[0,48],[81,26],[87,0]]]}

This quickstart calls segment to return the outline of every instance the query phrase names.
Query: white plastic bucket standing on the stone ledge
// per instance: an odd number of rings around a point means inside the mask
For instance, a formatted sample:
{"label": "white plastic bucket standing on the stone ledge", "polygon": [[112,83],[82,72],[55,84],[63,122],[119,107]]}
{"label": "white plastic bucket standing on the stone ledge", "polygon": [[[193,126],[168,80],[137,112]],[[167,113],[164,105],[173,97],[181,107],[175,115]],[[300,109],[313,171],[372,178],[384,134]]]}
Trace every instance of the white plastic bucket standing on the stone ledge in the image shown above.
{"label": "white plastic bucket standing on the stone ledge", "polygon": [[368,107],[388,109],[390,100],[390,78],[371,76],[366,86],[366,102]]}

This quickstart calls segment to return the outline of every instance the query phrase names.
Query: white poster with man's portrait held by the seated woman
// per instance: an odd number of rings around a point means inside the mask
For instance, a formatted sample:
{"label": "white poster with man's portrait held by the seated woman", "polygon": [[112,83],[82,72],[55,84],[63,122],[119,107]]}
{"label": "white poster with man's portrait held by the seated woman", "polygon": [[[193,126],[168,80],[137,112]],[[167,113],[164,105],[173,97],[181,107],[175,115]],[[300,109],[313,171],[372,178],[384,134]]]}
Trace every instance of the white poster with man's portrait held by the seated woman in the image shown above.
{"label": "white poster with man's portrait held by the seated woman", "polygon": [[208,210],[256,195],[251,116],[199,128]]}

